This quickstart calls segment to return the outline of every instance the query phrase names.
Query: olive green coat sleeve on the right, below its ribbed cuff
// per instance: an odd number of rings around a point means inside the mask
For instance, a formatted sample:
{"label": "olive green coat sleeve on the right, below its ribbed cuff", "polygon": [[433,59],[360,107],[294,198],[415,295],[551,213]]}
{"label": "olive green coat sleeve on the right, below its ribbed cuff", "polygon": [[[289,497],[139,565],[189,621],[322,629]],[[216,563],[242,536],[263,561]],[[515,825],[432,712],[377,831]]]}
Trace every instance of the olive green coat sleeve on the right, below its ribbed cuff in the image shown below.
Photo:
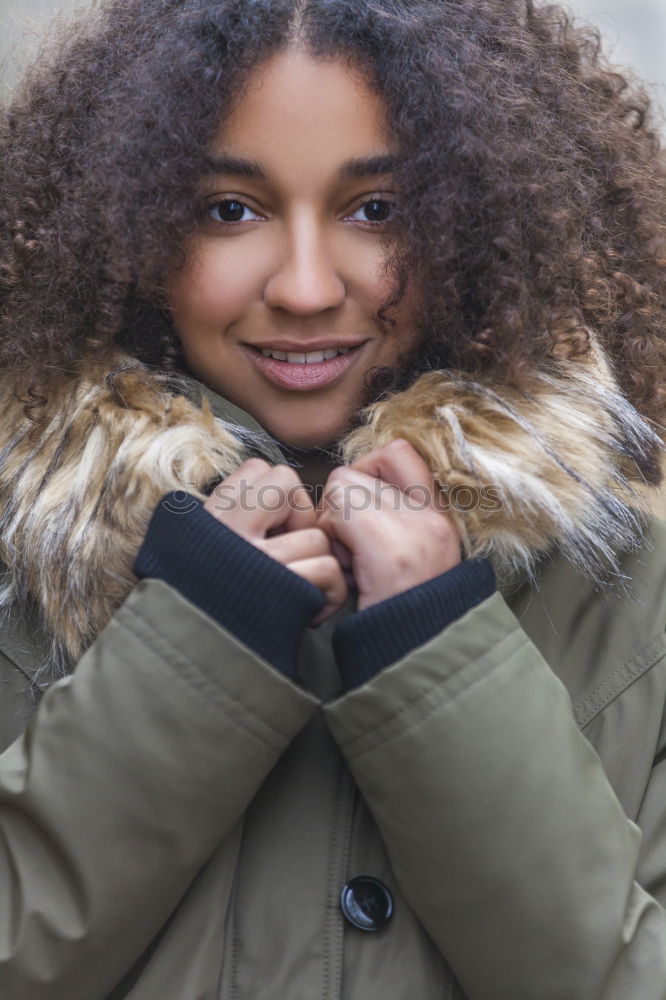
{"label": "olive green coat sleeve on the right, below its ribbed cuff", "polygon": [[497,593],[325,707],[469,1000],[666,998],[666,765],[639,828]]}

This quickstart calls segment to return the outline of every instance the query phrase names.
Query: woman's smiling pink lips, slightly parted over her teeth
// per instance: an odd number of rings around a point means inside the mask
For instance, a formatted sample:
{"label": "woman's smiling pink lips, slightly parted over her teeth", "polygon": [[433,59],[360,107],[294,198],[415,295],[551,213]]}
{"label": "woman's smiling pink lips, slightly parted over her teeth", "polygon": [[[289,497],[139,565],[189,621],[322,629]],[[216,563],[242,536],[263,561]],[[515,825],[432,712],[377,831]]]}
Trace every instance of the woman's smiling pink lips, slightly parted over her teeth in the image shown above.
{"label": "woman's smiling pink lips, slightly parted over her teeth", "polygon": [[[367,341],[363,341],[355,346],[346,347],[342,344],[332,345],[330,342],[326,346],[308,344],[308,350],[305,351],[305,345],[300,345],[300,349],[298,347],[294,349],[293,345],[282,342],[272,343],[263,348],[248,345],[246,349],[254,364],[267,379],[284,389],[295,389],[303,392],[308,389],[319,389],[335,382],[355,364],[366,343]],[[287,346],[291,349],[286,350]],[[284,358],[266,357],[262,353],[264,350],[284,354]],[[345,353],[338,354],[339,350],[343,350]],[[336,352],[335,357],[327,359],[325,354],[333,351]],[[292,355],[292,360],[288,359],[289,354]],[[322,360],[308,361],[308,354],[314,354],[317,358],[323,354],[324,357]]]}

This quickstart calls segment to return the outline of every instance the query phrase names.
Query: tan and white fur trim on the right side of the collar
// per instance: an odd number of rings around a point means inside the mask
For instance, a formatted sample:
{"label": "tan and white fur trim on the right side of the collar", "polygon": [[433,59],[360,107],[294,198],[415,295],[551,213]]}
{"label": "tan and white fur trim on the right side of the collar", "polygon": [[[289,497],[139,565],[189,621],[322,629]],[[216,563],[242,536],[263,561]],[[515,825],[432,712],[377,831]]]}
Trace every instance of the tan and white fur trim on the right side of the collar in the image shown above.
{"label": "tan and white fur trim on the right side of the collar", "polygon": [[534,580],[540,557],[559,548],[597,585],[622,582],[618,553],[644,537],[646,497],[632,481],[663,444],[588,336],[587,354],[551,359],[522,391],[452,371],[421,376],[367,408],[365,426],[341,441],[343,462],[406,438],[449,497],[471,496],[469,509],[450,510],[468,557]]}

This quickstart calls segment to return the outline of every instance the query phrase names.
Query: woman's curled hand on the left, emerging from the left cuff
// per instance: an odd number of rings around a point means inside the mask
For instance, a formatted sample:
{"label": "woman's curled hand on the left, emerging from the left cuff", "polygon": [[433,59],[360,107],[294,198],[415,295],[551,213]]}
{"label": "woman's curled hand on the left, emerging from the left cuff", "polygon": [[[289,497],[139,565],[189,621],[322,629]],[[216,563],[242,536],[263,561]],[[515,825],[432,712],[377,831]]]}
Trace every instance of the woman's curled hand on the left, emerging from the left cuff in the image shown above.
{"label": "woman's curled hand on the left, emerging from the left cuff", "polygon": [[215,488],[204,509],[323,591],[326,604],[309,623],[334,615],[347,599],[343,569],[298,473],[288,465],[250,458]]}

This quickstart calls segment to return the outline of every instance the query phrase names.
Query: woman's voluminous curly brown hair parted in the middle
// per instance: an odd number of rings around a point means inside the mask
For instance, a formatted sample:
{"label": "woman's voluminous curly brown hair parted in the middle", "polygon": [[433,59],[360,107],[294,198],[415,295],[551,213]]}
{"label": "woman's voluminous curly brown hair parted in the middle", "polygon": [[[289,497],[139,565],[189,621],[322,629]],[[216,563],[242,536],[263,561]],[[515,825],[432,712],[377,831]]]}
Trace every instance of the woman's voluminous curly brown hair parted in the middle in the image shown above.
{"label": "woman's voluminous curly brown hair parted in the middle", "polygon": [[440,367],[519,385],[560,345],[584,352],[591,328],[660,421],[666,168],[650,99],[603,62],[597,32],[533,0],[111,0],[61,27],[0,126],[0,366],[33,398],[118,346],[183,367],[165,276],[224,114],[290,42],[360,66],[402,150],[394,301],[409,270],[423,339],[392,387]]}

